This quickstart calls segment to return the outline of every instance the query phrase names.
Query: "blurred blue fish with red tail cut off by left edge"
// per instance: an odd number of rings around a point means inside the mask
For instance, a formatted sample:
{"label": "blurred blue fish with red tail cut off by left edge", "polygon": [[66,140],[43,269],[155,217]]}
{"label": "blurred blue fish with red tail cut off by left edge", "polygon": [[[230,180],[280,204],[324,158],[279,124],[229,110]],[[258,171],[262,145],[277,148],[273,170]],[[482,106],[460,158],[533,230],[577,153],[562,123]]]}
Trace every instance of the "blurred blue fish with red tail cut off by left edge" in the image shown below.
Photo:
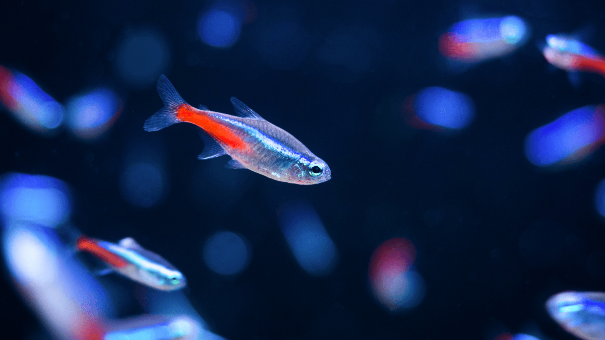
{"label": "blurred blue fish with red tail cut off by left edge", "polygon": [[64,120],[63,106],[29,77],[0,65],[0,102],[19,123],[33,131],[47,133]]}

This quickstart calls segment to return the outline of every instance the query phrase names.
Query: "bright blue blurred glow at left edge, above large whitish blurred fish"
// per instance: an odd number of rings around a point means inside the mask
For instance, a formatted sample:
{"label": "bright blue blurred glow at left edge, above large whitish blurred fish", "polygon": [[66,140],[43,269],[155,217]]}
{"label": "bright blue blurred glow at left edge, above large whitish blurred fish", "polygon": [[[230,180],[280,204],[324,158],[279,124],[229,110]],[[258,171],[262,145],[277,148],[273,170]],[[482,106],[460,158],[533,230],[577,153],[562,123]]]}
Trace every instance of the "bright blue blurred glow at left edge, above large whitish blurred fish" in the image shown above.
{"label": "bright blue blurred glow at left edge, above large whitish blurred fish", "polygon": [[0,212],[5,222],[27,221],[56,227],[70,215],[67,188],[56,178],[11,174],[0,185]]}

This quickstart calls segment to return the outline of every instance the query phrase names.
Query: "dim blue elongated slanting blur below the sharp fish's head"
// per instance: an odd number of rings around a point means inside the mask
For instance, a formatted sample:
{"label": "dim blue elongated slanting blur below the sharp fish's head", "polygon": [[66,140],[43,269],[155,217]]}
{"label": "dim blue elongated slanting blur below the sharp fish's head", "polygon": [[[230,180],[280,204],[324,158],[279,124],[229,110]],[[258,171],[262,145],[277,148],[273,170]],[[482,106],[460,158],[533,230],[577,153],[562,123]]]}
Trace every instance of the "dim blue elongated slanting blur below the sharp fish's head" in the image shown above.
{"label": "dim blue elongated slanting blur below the sharp fish's head", "polygon": [[304,204],[284,208],[280,226],[302,269],[327,275],[336,264],[336,246],[313,208]]}

